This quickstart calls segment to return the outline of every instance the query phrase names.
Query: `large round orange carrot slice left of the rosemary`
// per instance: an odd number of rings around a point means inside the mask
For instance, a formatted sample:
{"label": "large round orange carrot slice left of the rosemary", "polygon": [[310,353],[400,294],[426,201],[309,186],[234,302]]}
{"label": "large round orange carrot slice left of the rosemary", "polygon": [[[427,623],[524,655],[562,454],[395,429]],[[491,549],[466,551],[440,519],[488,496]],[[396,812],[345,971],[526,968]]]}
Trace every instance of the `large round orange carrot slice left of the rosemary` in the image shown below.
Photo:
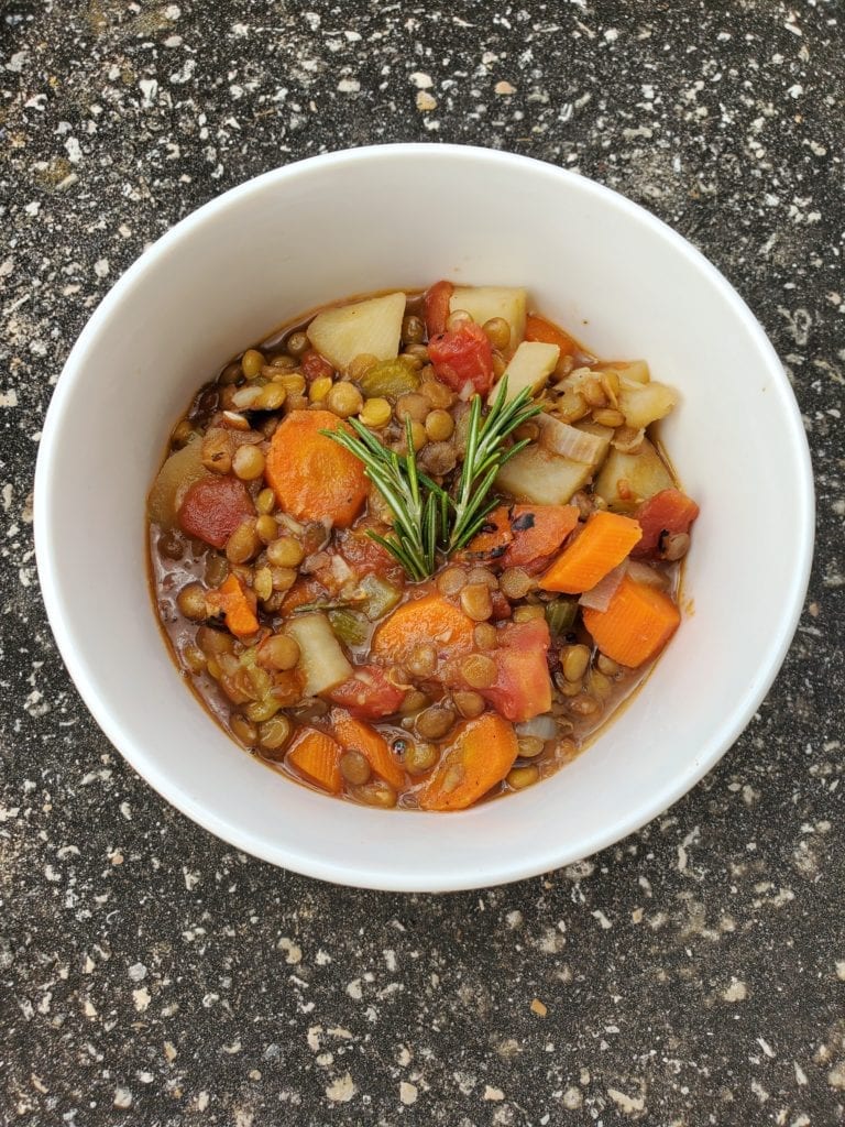
{"label": "large round orange carrot slice left of the rosemary", "polygon": [[[331,411],[291,411],[273,435],[265,477],[279,506],[301,521],[348,527],[367,494],[364,465],[320,431],[349,429]],[[352,433],[352,432],[349,432]]]}

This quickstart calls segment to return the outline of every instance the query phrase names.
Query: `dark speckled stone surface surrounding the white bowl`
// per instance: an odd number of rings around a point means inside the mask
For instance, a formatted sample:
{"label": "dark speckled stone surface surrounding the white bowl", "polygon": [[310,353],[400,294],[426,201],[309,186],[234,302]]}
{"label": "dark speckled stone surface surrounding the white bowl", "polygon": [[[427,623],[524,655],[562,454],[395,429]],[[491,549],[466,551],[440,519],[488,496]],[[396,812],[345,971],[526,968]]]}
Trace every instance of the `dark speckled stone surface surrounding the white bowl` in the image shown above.
{"label": "dark speckled stone surface surrounding the white bowl", "polygon": [[[833,0],[3,5],[0,1121],[843,1121],[843,30]],[[454,896],[318,884],[170,809],[70,683],[32,543],[53,384],[142,248],[399,140],[579,170],[692,239],[817,470],[799,631],[718,769],[614,849]]]}

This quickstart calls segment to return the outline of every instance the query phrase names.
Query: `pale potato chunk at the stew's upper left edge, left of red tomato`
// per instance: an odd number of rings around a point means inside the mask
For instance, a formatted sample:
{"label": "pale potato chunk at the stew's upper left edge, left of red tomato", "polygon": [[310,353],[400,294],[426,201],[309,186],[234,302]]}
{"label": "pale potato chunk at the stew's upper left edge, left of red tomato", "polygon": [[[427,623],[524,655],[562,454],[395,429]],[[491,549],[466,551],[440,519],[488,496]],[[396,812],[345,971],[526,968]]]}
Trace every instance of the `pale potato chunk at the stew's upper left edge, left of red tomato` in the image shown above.
{"label": "pale potato chunk at the stew's upper left edge, left of red tomato", "polygon": [[339,372],[346,372],[356,356],[395,360],[402,331],[406,296],[389,293],[353,305],[327,309],[308,327],[314,348]]}

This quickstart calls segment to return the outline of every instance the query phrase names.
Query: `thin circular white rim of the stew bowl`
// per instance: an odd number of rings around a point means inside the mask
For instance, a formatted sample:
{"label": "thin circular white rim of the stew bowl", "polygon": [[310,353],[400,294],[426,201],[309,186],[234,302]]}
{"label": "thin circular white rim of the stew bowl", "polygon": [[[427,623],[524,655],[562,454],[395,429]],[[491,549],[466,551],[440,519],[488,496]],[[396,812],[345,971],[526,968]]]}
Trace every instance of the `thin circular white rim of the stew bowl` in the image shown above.
{"label": "thin circular white rim of the stew bowl", "polygon": [[[113,309],[119,305],[124,300],[124,294],[133,287],[135,282],[148,270],[158,268],[161,259],[166,258],[183,238],[189,236],[207,220],[212,218],[215,220],[219,219],[230,207],[240,205],[244,198],[248,198],[252,194],[260,193],[268,184],[283,183],[303,175],[308,176],[313,169],[320,167],[339,169],[350,163],[379,159],[401,161],[409,157],[416,160],[480,162],[499,168],[507,166],[512,169],[522,169],[530,176],[544,176],[558,183],[575,184],[579,192],[593,195],[594,198],[612,205],[630,220],[649,228],[657,238],[673,245],[694,268],[706,275],[711,284],[721,291],[729,301],[735,316],[739,318],[749,332],[762,363],[768,370],[773,390],[779,397],[784,421],[788,425],[790,454],[798,470],[794,499],[794,526],[798,533],[795,536],[797,559],[789,588],[783,593],[783,614],[780,618],[777,630],[768,645],[765,662],[762,663],[755,675],[750,678],[744,698],[733,712],[723,718],[709,738],[702,742],[699,753],[694,757],[691,757],[687,769],[674,774],[665,787],[653,791],[651,800],[632,810],[630,817],[619,819],[612,825],[597,829],[590,836],[582,837],[575,850],[570,845],[557,850],[546,850],[543,855],[531,854],[530,857],[519,858],[502,855],[483,872],[478,872],[474,876],[469,876],[465,871],[455,871],[453,873],[438,871],[435,875],[434,872],[417,869],[413,872],[401,872],[385,878],[384,872],[381,870],[371,871],[361,864],[350,863],[344,858],[339,858],[331,863],[315,861],[309,854],[299,851],[295,843],[281,844],[268,842],[264,836],[252,834],[243,826],[237,825],[220,814],[210,810],[206,806],[197,802],[189,792],[175,786],[166,771],[160,770],[154,763],[150,762],[145,748],[123,731],[119,718],[113,713],[109,702],[99,692],[96,671],[89,667],[81,649],[74,644],[74,636],[68,628],[64,619],[62,598],[56,583],[60,552],[54,538],[51,535],[52,504],[50,483],[56,473],[56,445],[61,433],[64,406],[73,396],[75,383],[82,371],[89,347],[96,340],[100,328],[107,323]],[[38,580],[59,651],[86,707],[94,716],[106,738],[127,760],[130,765],[181,814],[246,853],[304,876],[344,886],[373,888],[385,891],[459,891],[505,885],[534,877],[606,849],[667,810],[674,802],[687,793],[737,740],[772,686],[784,662],[801,615],[809,584],[815,539],[812,465],[798,402],[777,354],[762,325],[745,300],[721,272],[687,239],[651,212],[621,195],[619,192],[615,192],[613,188],[598,184],[579,172],[531,157],[497,149],[425,142],[341,149],[272,169],[230,188],[220,196],[203,204],[148,247],[104,296],[68,355],[42,427],[35,470],[34,497],[34,534]],[[162,645],[162,655],[163,653]],[[518,796],[510,797],[510,801],[517,799]],[[468,813],[471,811],[452,816],[466,816]],[[374,816],[384,817],[385,815],[383,811],[374,811]],[[415,817],[415,815],[411,811],[403,811],[402,817]],[[416,817],[422,818],[429,817],[429,815],[418,814]]]}

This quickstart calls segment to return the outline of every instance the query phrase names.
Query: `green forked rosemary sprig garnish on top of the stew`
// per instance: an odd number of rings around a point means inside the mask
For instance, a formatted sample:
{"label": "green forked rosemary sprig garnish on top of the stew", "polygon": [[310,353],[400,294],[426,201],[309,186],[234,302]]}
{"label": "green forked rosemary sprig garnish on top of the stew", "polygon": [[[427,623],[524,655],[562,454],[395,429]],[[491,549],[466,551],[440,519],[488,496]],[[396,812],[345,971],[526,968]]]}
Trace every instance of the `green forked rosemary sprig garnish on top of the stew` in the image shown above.
{"label": "green forked rosemary sprig garnish on top of the stew", "polygon": [[386,549],[411,579],[425,579],[435,571],[438,549],[451,556],[469,543],[484,523],[496,505],[496,497],[490,492],[496,474],[528,443],[524,438],[506,447],[505,441],[541,409],[532,402],[528,388],[508,402],[507,378],[501,380],[486,416],[481,397],[473,396],[455,498],[420,472],[410,419],[406,419],[407,454],[388,450],[357,419],[348,420],[355,435],[344,429],[322,431],[321,434],[361,459],[365,474],[393,514],[392,536],[372,531],[367,535]]}

